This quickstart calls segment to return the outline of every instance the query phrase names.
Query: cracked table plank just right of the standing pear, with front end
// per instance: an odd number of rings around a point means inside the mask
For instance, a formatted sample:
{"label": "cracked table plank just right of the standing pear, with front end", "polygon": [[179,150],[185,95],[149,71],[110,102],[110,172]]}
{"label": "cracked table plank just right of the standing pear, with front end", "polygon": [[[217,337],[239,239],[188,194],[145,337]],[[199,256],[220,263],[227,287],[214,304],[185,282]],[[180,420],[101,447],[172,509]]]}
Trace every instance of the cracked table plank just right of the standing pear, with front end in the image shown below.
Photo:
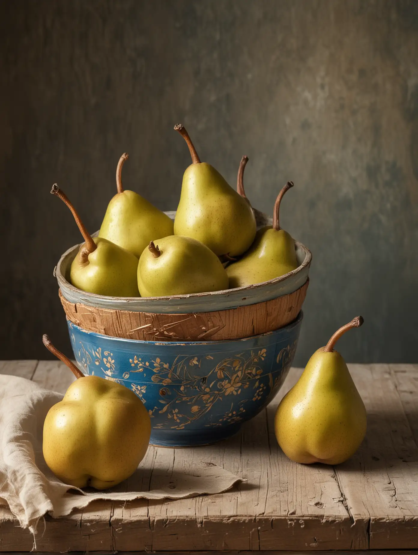
{"label": "cracked table plank just right of the standing pear, with front end", "polygon": [[418,447],[396,381],[389,365],[349,369],[366,405],[367,433],[359,451],[335,467],[346,502],[354,521],[370,521],[366,547],[416,548]]}

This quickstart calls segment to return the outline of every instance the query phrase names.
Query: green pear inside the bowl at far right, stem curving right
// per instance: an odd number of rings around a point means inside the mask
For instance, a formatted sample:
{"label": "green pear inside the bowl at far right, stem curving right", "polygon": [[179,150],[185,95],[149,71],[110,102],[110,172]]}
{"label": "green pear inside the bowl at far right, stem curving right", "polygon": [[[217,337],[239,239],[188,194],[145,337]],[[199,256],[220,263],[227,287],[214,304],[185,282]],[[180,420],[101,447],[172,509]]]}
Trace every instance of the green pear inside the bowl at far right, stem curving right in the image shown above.
{"label": "green pear inside the bowl at far right, stem curving right", "polygon": [[230,289],[279,278],[298,268],[295,241],[279,225],[280,202],[291,187],[293,183],[288,181],[276,199],[273,226],[266,225],[259,229],[243,258],[226,268]]}

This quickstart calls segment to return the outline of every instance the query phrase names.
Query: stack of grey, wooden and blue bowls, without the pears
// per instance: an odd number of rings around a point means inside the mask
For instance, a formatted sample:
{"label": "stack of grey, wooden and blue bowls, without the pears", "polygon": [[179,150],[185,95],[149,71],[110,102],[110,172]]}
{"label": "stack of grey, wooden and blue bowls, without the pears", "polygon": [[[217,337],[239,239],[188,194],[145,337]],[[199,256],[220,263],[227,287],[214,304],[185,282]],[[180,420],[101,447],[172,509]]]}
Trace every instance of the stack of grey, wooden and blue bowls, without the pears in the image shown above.
{"label": "stack of grey, wooden and blue bowls, without the pears", "polygon": [[[258,228],[271,218],[254,210]],[[174,212],[167,213],[174,219]],[[278,392],[298,343],[310,251],[298,268],[247,287],[171,297],[109,297],[69,281],[79,245],[55,275],[75,359],[145,403],[151,443],[207,445],[233,435]]]}

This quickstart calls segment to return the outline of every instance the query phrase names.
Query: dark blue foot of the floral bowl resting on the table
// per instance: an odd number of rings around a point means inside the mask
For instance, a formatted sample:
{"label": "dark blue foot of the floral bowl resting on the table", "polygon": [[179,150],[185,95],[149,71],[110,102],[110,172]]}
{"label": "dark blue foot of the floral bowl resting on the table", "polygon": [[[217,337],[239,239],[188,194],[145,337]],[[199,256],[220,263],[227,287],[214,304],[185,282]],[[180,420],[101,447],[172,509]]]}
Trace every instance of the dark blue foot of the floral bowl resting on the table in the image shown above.
{"label": "dark blue foot of the floral bowl resting on the table", "polygon": [[203,447],[226,440],[239,431],[241,422],[215,430],[158,430],[151,431],[149,445],[155,447]]}

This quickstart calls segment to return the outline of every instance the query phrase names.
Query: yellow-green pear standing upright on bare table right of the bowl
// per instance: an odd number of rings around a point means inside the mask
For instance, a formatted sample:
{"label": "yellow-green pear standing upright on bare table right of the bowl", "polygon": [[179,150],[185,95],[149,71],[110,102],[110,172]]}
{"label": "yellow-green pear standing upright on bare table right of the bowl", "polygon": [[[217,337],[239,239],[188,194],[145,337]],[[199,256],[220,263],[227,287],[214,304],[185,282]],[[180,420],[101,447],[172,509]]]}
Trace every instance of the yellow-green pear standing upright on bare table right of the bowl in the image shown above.
{"label": "yellow-green pear standing upright on bare table right of the bowl", "polygon": [[359,327],[361,316],[340,327],[310,357],[296,385],[277,409],[274,431],[295,462],[338,465],[354,455],[366,433],[366,409],[335,342]]}

